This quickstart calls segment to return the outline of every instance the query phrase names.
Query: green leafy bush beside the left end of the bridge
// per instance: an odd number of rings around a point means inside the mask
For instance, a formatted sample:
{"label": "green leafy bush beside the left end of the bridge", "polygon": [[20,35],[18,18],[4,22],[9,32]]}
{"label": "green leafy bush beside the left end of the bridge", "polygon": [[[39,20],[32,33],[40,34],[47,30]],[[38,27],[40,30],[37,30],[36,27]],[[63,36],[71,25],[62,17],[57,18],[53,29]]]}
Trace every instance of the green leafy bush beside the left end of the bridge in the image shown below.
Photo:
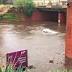
{"label": "green leafy bush beside the left end of the bridge", "polygon": [[14,7],[18,8],[26,16],[32,16],[35,6],[32,0],[15,0],[13,2]]}

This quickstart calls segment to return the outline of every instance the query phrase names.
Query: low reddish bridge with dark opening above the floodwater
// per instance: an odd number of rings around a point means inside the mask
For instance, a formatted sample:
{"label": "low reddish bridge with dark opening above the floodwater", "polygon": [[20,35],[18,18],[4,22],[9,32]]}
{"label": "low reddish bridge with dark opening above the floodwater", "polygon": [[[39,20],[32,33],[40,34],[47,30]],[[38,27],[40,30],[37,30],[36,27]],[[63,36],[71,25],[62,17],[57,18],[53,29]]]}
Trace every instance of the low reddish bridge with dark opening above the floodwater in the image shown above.
{"label": "low reddish bridge with dark opening above the floodwater", "polygon": [[66,24],[67,8],[38,7],[32,15],[34,21],[54,21],[58,24]]}

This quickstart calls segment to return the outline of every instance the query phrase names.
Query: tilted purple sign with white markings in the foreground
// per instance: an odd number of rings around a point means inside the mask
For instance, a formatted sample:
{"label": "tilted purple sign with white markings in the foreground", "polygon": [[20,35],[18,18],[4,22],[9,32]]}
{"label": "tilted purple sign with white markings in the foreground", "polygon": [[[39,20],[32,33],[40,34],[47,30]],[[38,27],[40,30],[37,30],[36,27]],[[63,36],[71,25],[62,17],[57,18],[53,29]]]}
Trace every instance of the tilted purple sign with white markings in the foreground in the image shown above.
{"label": "tilted purple sign with white markings in the foreground", "polygon": [[15,68],[20,65],[23,67],[28,66],[27,50],[7,53],[7,64],[12,64]]}

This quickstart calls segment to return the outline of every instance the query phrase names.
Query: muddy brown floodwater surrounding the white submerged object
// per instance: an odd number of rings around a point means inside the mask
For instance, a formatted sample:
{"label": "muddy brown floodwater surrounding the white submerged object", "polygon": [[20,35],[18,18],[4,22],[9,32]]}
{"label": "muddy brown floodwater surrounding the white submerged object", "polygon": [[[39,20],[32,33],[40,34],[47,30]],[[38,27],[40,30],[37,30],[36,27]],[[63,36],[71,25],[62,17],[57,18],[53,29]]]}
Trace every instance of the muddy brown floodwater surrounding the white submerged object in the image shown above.
{"label": "muddy brown floodwater surrounding the white submerged object", "polygon": [[[43,29],[58,34],[43,33]],[[48,72],[51,68],[64,67],[64,27],[57,25],[0,25],[0,56],[19,50],[28,50],[28,64],[32,72]],[[4,60],[5,61],[5,60]],[[3,62],[2,62],[3,63]]]}

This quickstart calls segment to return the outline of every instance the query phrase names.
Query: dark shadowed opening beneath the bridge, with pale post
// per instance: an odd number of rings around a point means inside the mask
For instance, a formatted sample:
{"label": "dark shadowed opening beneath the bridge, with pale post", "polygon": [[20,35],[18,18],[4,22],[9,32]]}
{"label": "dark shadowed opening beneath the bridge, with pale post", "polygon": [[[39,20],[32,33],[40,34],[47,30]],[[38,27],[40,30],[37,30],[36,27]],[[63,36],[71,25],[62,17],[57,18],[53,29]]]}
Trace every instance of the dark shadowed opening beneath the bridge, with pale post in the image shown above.
{"label": "dark shadowed opening beneath the bridge, with pale post", "polygon": [[66,8],[37,8],[48,21],[66,23]]}

